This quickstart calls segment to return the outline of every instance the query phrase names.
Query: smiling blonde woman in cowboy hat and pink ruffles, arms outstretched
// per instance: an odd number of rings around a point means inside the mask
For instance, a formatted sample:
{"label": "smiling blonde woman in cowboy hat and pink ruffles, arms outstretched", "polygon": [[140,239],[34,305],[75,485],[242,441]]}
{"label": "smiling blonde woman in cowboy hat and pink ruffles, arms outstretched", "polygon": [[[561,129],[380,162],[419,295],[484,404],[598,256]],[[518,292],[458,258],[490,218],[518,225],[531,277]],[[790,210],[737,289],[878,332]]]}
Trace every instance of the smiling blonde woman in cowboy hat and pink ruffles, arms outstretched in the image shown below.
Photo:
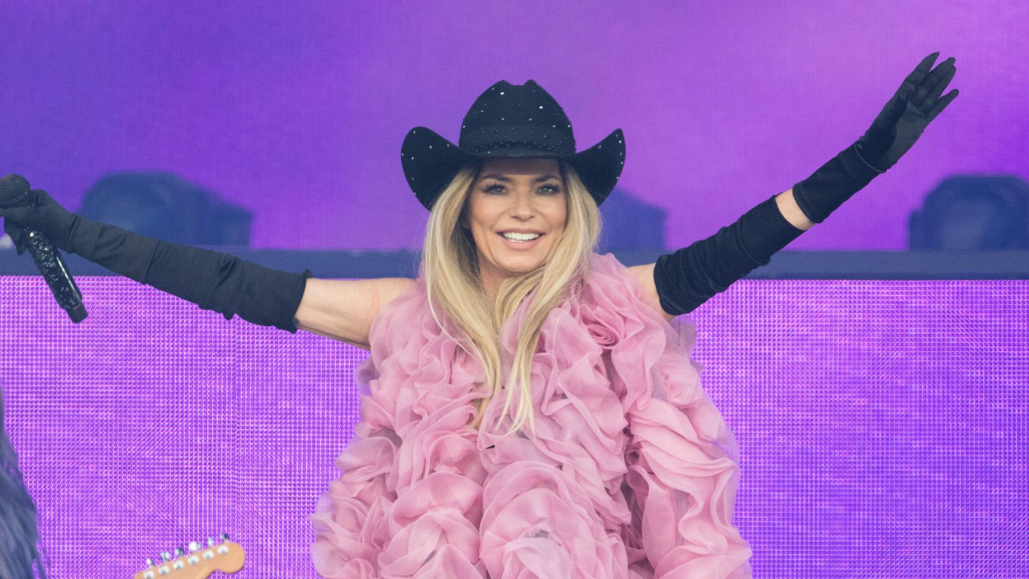
{"label": "smiling blonde woman in cowboy hat and pink ruffles, arms outstretched", "polygon": [[673,318],[895,164],[957,96],[941,98],[955,68],[930,72],[937,56],[811,177],[633,268],[594,252],[622,132],[575,152],[531,80],[483,93],[458,145],[409,133],[404,174],[429,209],[417,279],[278,272],[90,222],[42,191],[0,214],[20,251],[31,225],[226,319],[370,350],[342,476],[312,515],[323,577],[747,577],[736,443],[689,356],[694,326]]}

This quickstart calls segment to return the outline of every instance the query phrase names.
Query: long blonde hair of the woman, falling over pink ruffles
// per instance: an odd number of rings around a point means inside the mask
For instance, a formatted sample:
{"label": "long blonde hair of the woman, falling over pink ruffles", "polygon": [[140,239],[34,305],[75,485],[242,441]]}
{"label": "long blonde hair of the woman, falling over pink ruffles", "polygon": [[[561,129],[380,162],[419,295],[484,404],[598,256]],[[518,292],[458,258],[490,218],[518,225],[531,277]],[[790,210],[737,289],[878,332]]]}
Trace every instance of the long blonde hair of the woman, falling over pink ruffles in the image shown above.
{"label": "long blonde hair of the woman, falling over pink ruffles", "polygon": [[[514,359],[507,380],[507,397],[501,416],[506,415],[512,398],[518,398],[518,412],[510,430],[518,431],[526,421],[535,434],[532,412],[530,370],[539,343],[540,329],[551,310],[564,297],[572,279],[589,273],[590,256],[600,236],[601,218],[597,203],[579,179],[575,169],[559,161],[566,192],[567,217],[564,232],[551,248],[546,260],[524,275],[508,277],[500,284],[496,303],[490,304],[478,273],[478,253],[471,231],[460,227],[467,215],[467,201],[483,168],[483,162],[468,163],[443,188],[429,211],[425,229],[422,265],[429,309],[439,322],[433,302],[437,303],[454,325],[464,333],[472,350],[456,340],[461,349],[477,356],[486,370],[489,396],[476,400],[475,418],[471,425],[478,429],[484,410],[503,386],[500,361],[500,329],[525,298],[535,291],[525,321],[519,331]],[[450,333],[448,333],[450,335]],[[453,338],[453,336],[451,336]]]}

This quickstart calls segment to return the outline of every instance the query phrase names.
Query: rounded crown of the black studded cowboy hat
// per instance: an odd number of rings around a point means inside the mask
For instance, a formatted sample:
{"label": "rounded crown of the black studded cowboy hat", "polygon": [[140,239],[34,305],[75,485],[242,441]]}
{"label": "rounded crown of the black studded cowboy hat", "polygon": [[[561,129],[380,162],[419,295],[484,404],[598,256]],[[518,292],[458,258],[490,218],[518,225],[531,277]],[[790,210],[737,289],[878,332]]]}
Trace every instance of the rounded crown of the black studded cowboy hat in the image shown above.
{"label": "rounded crown of the black studded cowboy hat", "polygon": [[458,146],[495,157],[575,155],[571,122],[535,80],[500,80],[475,99],[461,123]]}

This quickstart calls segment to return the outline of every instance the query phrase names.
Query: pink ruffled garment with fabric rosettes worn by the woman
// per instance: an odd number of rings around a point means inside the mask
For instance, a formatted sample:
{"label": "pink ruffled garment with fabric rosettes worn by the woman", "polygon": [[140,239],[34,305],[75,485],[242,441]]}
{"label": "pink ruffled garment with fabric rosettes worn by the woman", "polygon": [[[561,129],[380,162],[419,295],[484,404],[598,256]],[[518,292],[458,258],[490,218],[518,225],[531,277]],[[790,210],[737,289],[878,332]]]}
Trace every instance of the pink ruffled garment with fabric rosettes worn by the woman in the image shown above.
{"label": "pink ruffled garment with fabric rosettes worn by the woman", "polygon": [[[320,576],[750,577],[736,440],[689,355],[696,326],[667,322],[611,253],[591,260],[582,297],[542,329],[535,438],[493,434],[512,423],[505,393],[468,425],[485,372],[437,327],[421,276],[380,311],[361,419],[311,515]],[[533,296],[501,331],[505,376]]]}

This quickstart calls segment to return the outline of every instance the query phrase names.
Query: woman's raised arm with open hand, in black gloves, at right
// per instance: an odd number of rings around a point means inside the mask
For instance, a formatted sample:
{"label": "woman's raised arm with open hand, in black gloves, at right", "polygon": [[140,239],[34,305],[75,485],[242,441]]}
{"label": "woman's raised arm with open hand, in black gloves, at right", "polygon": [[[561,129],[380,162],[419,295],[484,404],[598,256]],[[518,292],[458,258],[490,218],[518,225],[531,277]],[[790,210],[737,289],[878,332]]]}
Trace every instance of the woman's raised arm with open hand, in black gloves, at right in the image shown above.
{"label": "woman's raised arm with open hand, in black gloves, at right", "polygon": [[[941,98],[954,77],[954,59],[931,70],[933,53],[909,74],[860,139],[789,191],[769,198],[707,239],[662,256],[636,273],[666,318],[687,313],[820,224],[829,213],[903,156],[946,106]],[[644,274],[652,272],[652,279]],[[652,282],[652,286],[651,286]],[[651,288],[652,287],[652,288]]]}

